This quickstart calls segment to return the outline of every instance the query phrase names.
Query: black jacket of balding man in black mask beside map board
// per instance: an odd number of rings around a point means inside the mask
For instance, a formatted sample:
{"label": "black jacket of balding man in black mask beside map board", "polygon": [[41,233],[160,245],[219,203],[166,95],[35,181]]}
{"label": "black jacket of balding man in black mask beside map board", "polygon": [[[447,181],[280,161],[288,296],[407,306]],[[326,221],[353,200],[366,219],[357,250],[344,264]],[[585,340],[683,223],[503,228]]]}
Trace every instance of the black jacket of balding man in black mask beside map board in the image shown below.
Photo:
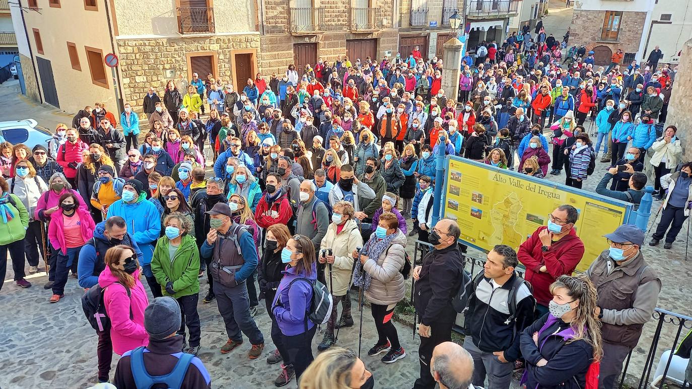
{"label": "black jacket of balding man in black mask beside map board", "polygon": [[423,258],[413,300],[421,323],[454,323],[457,311],[452,307],[452,299],[462,282],[463,269],[460,245],[432,250]]}

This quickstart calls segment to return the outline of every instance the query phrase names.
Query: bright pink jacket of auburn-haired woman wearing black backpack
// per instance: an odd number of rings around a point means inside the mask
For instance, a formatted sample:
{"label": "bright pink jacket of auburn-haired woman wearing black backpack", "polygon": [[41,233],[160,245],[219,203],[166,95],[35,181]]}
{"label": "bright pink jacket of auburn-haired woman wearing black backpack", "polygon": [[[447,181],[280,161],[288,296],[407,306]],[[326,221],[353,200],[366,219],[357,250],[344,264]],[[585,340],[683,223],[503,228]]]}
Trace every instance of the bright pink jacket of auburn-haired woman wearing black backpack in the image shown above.
{"label": "bright pink jacket of auburn-haired woman wearing black backpack", "polygon": [[98,276],[98,285],[105,290],[103,303],[106,313],[111,319],[113,351],[118,355],[149,344],[149,334],[144,329],[144,309],[149,305],[149,298],[144,285],[139,281],[139,275],[139,270],[132,274],[135,285],[130,290],[130,298],[127,298],[125,287],[117,283],[118,278],[108,266]]}

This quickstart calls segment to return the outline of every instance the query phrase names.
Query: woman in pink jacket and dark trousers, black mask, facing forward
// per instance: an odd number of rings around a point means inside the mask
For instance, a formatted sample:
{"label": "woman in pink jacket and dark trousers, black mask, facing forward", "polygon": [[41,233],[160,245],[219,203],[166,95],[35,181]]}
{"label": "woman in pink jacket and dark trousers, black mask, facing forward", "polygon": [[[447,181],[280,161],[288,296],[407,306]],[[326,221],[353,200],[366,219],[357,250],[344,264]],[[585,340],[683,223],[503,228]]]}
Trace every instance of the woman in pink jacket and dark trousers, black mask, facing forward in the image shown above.
{"label": "woman in pink jacket and dark trousers, black mask, facing forward", "polygon": [[48,240],[56,252],[55,256],[55,283],[53,283],[53,296],[51,303],[57,303],[64,295],[67,274],[84,243],[93,236],[96,228],[91,214],[86,209],[79,208],[81,196],[67,192],[60,196],[57,204],[60,207],[51,214],[51,222],[48,224]]}

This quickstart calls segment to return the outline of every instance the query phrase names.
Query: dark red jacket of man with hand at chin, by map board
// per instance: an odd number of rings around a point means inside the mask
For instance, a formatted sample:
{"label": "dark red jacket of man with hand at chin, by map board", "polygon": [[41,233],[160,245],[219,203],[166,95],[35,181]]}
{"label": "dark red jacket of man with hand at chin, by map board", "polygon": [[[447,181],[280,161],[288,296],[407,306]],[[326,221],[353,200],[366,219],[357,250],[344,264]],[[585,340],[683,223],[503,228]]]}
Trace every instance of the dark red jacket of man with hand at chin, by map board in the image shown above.
{"label": "dark red jacket of man with hand at chin, by map board", "polygon": [[[569,276],[574,272],[584,255],[584,243],[579,236],[576,236],[573,228],[570,234],[552,243],[548,251],[543,252],[543,243],[538,238],[538,234],[544,229],[547,227],[538,227],[534,234],[519,246],[517,256],[519,262],[526,267],[524,278],[534,287],[536,302],[547,307],[553,299],[549,289],[550,284],[559,276],[563,274]],[[543,265],[547,267],[547,273],[538,272]]]}

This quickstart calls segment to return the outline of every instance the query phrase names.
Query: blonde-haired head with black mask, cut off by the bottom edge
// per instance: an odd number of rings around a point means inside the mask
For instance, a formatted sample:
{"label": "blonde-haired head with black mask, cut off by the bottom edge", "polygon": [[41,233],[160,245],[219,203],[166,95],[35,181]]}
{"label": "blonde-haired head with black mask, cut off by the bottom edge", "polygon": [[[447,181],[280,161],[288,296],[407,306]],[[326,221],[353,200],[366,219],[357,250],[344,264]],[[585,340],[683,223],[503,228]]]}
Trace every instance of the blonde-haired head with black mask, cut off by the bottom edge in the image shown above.
{"label": "blonde-haired head with black mask, cut off by the bottom edge", "polygon": [[374,379],[356,352],[340,347],[318,355],[300,380],[300,389],[351,388],[374,388]]}

